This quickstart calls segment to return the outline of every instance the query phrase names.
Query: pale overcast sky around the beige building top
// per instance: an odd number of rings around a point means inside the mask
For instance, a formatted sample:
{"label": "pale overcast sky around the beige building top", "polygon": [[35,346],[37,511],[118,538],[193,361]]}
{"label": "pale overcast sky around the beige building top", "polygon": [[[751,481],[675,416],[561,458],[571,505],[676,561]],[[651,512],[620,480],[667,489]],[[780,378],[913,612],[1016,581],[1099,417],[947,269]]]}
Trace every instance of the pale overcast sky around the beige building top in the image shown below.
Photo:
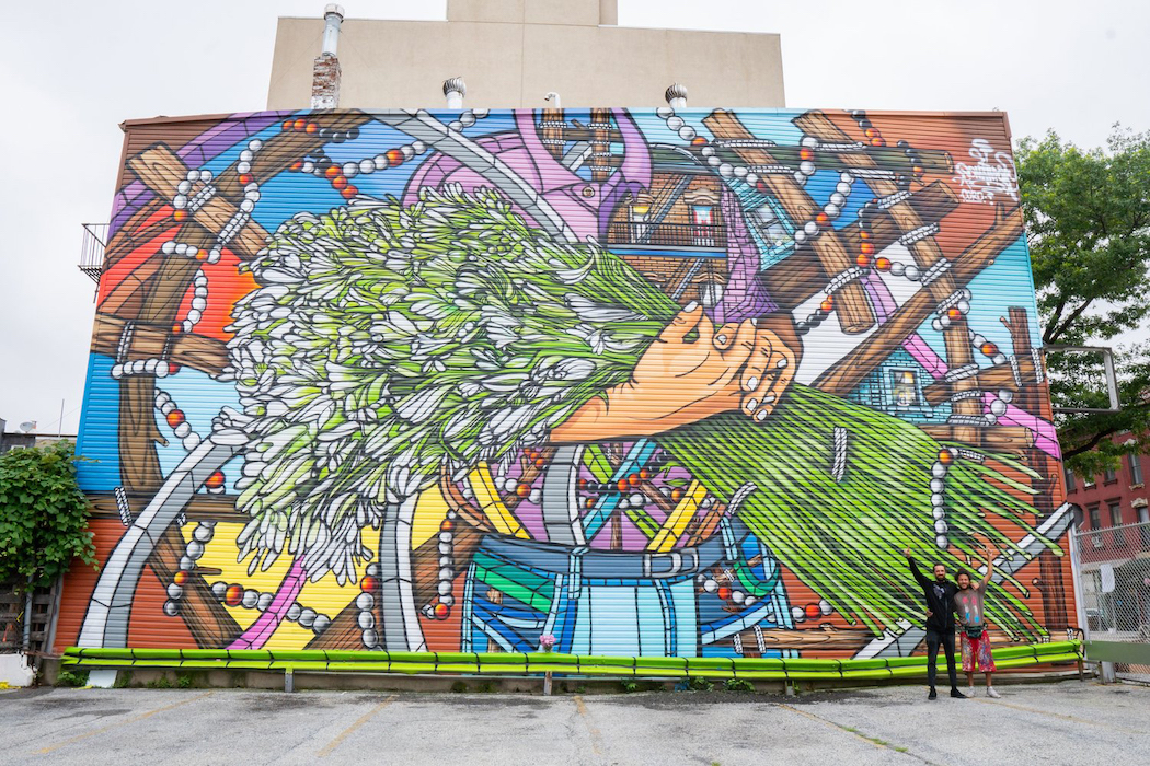
{"label": "pale overcast sky around the beige building top", "polygon": [[[443,0],[345,0],[444,18]],[[93,284],[80,224],[108,219],[123,119],[264,107],[278,16],[323,0],[8,3],[0,86],[0,418],[79,420]],[[1150,127],[1150,2],[619,0],[624,26],[779,32],[787,106],[1002,109],[1015,137],[1080,146]],[[32,10],[41,17],[34,18]],[[319,53],[319,51],[317,51]],[[710,106],[705,94],[692,103]],[[378,105],[385,107],[386,105]]]}

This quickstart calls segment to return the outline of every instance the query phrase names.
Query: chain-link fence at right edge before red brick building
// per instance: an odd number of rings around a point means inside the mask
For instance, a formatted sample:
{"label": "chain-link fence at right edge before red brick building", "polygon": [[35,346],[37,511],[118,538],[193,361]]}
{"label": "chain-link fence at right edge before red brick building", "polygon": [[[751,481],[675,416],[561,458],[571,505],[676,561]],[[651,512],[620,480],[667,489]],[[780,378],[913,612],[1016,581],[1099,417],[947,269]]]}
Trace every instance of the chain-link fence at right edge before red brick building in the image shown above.
{"label": "chain-link fence at right edge before red brick building", "polygon": [[[1072,533],[1087,639],[1150,644],[1150,523]],[[1150,683],[1150,665],[1114,663]]]}

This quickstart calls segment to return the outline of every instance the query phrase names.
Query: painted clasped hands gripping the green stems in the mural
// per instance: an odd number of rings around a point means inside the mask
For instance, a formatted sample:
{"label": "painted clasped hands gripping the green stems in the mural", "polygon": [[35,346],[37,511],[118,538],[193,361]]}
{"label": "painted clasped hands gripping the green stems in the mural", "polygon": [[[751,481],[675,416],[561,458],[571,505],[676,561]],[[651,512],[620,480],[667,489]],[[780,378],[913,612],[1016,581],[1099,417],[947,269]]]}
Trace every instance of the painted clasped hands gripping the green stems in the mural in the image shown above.
{"label": "painted clasped hands gripping the green stems in the mural", "polygon": [[761,423],[795,379],[802,345],[789,317],[715,327],[688,305],[639,358],[630,380],[552,432],[554,441],[649,436],[738,410]]}

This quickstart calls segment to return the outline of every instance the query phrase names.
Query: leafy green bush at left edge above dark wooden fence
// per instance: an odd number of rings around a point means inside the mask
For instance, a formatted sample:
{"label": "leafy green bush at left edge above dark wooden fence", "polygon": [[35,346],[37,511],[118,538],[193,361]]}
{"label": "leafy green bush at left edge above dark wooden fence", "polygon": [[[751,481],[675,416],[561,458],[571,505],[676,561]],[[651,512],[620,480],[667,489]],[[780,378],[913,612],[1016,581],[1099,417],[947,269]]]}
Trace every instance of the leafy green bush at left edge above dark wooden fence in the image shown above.
{"label": "leafy green bush at left edge above dark wooden fence", "polygon": [[0,455],[0,582],[43,588],[75,558],[95,565],[75,459],[66,441]]}

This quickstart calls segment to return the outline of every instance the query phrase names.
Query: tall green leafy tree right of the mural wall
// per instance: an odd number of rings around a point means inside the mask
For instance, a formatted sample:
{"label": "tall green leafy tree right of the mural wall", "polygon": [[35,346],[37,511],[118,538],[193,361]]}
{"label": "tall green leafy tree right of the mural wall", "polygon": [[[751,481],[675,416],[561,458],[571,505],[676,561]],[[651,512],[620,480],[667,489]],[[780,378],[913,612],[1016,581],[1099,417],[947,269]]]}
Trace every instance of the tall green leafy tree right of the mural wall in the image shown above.
{"label": "tall green leafy tree right of the mural wall", "polygon": [[[1044,346],[1109,346],[1150,315],[1150,132],[1116,125],[1105,149],[1080,149],[1053,131],[1015,153]],[[1106,408],[1101,355],[1046,357],[1059,408]],[[1058,417],[1067,466],[1081,475],[1150,448],[1150,348],[1117,349],[1118,413]],[[1116,444],[1112,434],[1130,431]]]}

